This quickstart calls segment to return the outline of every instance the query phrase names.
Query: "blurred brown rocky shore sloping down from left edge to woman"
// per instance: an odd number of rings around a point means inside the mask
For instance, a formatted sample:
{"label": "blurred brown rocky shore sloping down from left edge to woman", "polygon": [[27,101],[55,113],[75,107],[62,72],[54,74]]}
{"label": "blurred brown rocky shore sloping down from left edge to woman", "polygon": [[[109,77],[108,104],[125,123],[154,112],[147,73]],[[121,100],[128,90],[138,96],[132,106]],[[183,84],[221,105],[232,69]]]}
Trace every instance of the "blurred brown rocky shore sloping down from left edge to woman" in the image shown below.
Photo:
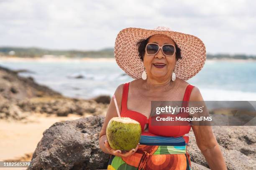
{"label": "blurred brown rocky shore sloping down from left edge to woman", "polygon": [[33,113],[57,116],[104,115],[109,96],[95,100],[64,97],[49,87],[38,85],[31,77],[21,77],[17,72],[0,67],[0,119],[22,120]]}

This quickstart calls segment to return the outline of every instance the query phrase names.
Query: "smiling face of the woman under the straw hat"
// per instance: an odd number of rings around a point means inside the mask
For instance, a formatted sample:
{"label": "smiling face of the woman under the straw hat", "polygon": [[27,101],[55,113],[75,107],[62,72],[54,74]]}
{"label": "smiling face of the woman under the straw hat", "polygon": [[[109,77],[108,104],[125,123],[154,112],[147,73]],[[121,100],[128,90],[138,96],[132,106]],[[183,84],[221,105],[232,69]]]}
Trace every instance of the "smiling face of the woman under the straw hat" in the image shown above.
{"label": "smiling face of the woman under the straw hat", "polygon": [[[160,47],[164,44],[172,44],[175,47],[174,41],[166,35],[153,35],[148,40],[148,43],[151,42],[158,44]],[[155,55],[147,55],[145,52],[143,62],[148,78],[158,80],[171,79],[176,64],[176,53],[174,56],[169,57],[164,55],[161,49]],[[164,64],[164,66],[159,66],[157,63]]]}

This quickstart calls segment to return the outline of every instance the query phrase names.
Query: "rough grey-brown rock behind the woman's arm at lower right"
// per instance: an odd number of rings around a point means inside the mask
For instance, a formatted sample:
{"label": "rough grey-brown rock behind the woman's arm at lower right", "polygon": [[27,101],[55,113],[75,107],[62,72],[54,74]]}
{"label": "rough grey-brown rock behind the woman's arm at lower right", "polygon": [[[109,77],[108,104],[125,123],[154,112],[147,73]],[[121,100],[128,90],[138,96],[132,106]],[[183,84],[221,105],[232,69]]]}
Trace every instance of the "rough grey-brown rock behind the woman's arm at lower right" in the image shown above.
{"label": "rough grey-brown rock behind the woman's arm at lower right", "polygon": [[[256,169],[255,126],[213,126],[215,137],[222,150],[228,170]],[[246,133],[244,133],[246,132]],[[204,156],[197,147],[195,135],[189,136],[188,153],[191,161],[209,168]],[[248,141],[250,141],[248,144]],[[252,141],[252,142],[251,142]],[[248,154],[245,155],[242,152]]]}

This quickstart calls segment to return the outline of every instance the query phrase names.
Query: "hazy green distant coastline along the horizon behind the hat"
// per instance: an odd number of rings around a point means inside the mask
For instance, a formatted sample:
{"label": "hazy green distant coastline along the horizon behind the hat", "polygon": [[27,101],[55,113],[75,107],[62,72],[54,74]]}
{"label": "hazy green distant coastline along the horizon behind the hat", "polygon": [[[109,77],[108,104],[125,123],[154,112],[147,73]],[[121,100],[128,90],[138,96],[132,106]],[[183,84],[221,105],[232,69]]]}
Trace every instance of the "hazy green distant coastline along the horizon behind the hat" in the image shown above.
{"label": "hazy green distant coastline along the horizon behind the hat", "polygon": [[[65,56],[70,58],[90,57],[90,58],[113,58],[114,48],[105,48],[97,51],[82,51],[82,50],[49,50],[37,47],[0,47],[0,55],[16,56],[16,57],[43,57],[46,55],[54,55],[55,57]],[[229,54],[207,54],[207,59],[253,59],[256,60],[256,55],[229,55]]]}

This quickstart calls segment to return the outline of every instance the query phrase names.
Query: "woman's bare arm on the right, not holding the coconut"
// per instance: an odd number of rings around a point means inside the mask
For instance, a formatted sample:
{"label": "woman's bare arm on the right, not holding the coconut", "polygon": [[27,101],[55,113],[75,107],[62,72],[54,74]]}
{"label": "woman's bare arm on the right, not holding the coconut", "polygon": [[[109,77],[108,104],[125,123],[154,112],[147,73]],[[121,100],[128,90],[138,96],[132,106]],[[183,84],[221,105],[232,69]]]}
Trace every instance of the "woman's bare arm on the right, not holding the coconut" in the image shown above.
{"label": "woman's bare arm on the right, not holding the coconut", "polygon": [[[197,87],[194,87],[189,101],[204,101]],[[192,125],[198,148],[211,170],[226,170],[225,161],[211,126]]]}

